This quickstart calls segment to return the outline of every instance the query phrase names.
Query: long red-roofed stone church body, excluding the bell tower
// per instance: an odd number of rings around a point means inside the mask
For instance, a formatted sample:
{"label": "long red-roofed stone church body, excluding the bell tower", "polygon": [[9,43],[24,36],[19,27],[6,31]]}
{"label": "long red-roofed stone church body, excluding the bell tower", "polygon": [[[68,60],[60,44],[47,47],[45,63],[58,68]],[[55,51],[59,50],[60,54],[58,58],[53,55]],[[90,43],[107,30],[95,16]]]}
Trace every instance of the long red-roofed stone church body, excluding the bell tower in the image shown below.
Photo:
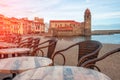
{"label": "long red-roofed stone church body, excluding the bell tower", "polygon": [[53,36],[74,36],[83,31],[80,29],[81,24],[74,20],[51,20],[50,29]]}

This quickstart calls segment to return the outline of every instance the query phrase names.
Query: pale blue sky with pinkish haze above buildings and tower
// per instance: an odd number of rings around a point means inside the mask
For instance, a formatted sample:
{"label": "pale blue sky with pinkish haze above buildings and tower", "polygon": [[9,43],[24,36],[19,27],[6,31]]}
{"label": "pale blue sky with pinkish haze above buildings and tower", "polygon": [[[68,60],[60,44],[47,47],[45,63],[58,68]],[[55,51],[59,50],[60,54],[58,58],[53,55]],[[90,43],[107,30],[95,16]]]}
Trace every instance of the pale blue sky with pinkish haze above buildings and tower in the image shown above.
{"label": "pale blue sky with pinkish haze above buildings and tower", "polygon": [[92,25],[120,23],[120,0],[0,0],[0,14],[7,17],[34,17],[49,20],[84,21],[91,10]]}

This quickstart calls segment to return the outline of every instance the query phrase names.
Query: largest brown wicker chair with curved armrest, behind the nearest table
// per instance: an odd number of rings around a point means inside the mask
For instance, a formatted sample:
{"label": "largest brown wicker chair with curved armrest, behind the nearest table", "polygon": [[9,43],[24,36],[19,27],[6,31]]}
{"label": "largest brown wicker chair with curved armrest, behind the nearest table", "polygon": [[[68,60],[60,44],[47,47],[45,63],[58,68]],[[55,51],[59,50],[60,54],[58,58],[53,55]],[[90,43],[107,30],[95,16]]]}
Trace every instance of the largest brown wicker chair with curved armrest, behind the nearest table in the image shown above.
{"label": "largest brown wicker chair with curved armrest, behind the nearest table", "polygon": [[[75,44],[73,44],[65,49],[56,51],[54,53],[54,55],[52,56],[53,63],[55,62],[54,61],[55,56],[61,55],[63,57],[63,64],[62,65],[65,65],[66,58],[64,56],[64,52],[69,50],[70,48],[72,48],[74,46],[79,47],[78,63],[79,63],[79,60],[81,59],[82,56],[89,54],[89,56],[87,56],[87,58],[85,58],[84,60],[81,61],[83,63],[83,62],[88,61],[90,59],[96,58],[98,56],[98,53],[99,53],[101,47],[102,47],[102,44],[100,42],[94,41],[94,40],[87,40],[87,41],[75,43]],[[82,64],[82,63],[79,63],[79,64]]]}

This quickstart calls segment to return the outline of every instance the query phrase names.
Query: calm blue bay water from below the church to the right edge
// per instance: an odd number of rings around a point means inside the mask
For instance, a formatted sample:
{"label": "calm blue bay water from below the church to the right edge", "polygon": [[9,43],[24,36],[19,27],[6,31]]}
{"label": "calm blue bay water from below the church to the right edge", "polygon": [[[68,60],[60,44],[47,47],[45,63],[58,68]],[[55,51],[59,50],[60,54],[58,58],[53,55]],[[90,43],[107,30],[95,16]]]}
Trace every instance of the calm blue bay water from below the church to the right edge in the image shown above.
{"label": "calm blue bay water from below the church to the right edge", "polygon": [[110,35],[92,35],[91,37],[59,37],[58,40],[79,42],[84,41],[86,39],[98,40],[101,43],[110,43],[110,44],[120,44],[120,34],[110,34]]}

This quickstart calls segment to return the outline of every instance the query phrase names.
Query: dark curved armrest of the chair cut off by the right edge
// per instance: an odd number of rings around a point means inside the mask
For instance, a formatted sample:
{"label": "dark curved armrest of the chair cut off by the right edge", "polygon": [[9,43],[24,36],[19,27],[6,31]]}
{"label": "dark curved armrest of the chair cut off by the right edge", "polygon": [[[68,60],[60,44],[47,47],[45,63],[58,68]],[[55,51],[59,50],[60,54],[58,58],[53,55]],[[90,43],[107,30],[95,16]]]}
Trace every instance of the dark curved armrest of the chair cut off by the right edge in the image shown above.
{"label": "dark curved armrest of the chair cut off by the right edge", "polygon": [[[96,62],[98,62],[98,61],[101,61],[101,60],[105,59],[106,57],[108,57],[108,56],[110,56],[110,55],[112,55],[112,54],[114,54],[114,53],[117,53],[117,52],[120,52],[120,48],[117,48],[117,49],[114,49],[114,50],[112,50],[112,51],[110,51],[110,52],[107,52],[107,53],[105,53],[104,55],[102,55],[102,56],[100,56],[100,57],[97,57],[97,58],[88,60],[88,61],[84,62],[83,64],[79,64],[79,66],[81,66],[81,67],[86,67],[86,68],[95,67],[95,68],[97,68],[98,71],[101,71],[101,70],[99,69],[99,67],[98,67],[97,65],[93,64],[93,63],[96,63]],[[83,56],[83,57],[81,58],[80,62],[82,61],[82,59],[84,60],[85,58],[86,58],[86,57]]]}

